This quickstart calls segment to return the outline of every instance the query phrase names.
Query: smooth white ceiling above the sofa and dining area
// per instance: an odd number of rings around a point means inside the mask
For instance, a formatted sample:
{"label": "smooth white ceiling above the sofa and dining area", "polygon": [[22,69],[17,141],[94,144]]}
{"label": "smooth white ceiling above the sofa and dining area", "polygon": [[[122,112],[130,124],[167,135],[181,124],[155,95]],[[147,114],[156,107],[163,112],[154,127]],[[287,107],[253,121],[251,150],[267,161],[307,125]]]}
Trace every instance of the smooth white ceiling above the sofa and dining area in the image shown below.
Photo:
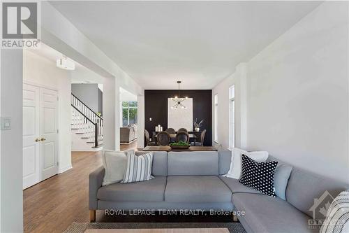
{"label": "smooth white ceiling above the sofa and dining area", "polygon": [[318,1],[51,1],[144,89],[211,89]]}

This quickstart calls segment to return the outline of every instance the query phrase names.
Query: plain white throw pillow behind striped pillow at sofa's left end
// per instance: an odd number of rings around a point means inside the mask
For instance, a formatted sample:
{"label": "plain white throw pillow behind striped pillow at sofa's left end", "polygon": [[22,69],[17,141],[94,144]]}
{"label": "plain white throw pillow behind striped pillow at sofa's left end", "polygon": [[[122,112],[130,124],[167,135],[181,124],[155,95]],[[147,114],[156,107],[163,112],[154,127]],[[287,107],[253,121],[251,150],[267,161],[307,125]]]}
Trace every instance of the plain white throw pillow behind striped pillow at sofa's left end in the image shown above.
{"label": "plain white throw pillow behind striped pillow at sofa's left end", "polygon": [[103,186],[119,183],[124,179],[127,165],[126,154],[128,153],[134,153],[134,151],[102,151],[102,161],[105,169]]}

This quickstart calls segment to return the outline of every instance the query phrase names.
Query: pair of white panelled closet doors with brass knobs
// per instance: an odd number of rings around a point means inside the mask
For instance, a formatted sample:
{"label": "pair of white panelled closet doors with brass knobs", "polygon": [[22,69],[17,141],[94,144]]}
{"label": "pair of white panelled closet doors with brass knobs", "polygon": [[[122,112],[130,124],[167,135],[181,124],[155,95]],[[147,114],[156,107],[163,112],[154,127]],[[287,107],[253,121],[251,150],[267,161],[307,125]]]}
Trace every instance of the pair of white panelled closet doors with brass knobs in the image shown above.
{"label": "pair of white panelled closet doors with brass knobs", "polygon": [[58,173],[58,93],[24,84],[23,188]]}

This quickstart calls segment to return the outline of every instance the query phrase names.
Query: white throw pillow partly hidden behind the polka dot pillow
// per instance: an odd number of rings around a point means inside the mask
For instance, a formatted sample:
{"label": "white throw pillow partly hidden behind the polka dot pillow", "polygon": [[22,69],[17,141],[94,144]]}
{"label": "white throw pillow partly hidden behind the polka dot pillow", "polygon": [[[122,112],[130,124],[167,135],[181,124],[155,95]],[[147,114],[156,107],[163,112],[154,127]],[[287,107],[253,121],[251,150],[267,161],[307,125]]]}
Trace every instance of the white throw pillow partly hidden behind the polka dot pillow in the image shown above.
{"label": "white throw pillow partly hidden behind the polka dot pillow", "polygon": [[227,174],[224,176],[228,178],[235,178],[239,179],[241,176],[241,157],[242,155],[247,155],[252,160],[255,160],[256,162],[265,162],[269,156],[269,153],[267,151],[251,151],[248,152],[246,150],[242,150],[239,148],[233,148],[232,149],[232,160],[230,162],[230,169]]}

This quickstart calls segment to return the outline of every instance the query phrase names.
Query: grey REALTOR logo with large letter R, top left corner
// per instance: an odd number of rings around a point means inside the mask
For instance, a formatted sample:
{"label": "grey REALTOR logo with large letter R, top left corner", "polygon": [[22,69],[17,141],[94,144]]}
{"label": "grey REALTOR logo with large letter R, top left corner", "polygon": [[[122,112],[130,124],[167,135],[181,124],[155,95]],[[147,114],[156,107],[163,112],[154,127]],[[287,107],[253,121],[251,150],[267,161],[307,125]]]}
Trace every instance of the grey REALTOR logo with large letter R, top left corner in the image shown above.
{"label": "grey REALTOR logo with large letter R, top left corner", "polygon": [[38,48],[39,2],[3,2],[1,48]]}

